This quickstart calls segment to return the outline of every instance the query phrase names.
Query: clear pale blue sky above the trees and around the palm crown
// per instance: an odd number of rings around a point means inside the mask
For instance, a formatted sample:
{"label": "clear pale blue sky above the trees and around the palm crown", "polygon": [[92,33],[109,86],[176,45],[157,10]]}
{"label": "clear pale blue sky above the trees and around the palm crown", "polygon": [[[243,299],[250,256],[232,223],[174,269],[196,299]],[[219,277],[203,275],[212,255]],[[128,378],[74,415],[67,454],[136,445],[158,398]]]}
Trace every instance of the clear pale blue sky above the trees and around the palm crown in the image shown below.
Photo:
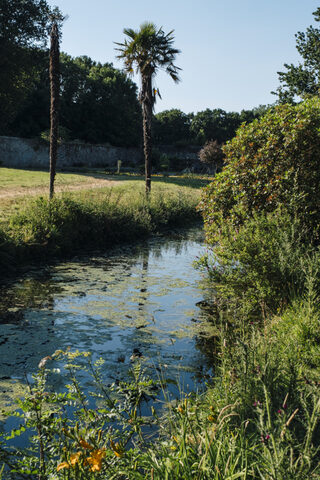
{"label": "clear pale blue sky above the trees and around the palm crown", "polygon": [[[72,56],[116,60],[115,41],[123,28],[148,20],[165,32],[175,30],[181,50],[176,64],[181,83],[164,73],[156,79],[162,101],[156,111],[205,108],[240,111],[275,101],[277,71],[298,63],[295,33],[314,24],[319,0],[49,0],[69,15],[62,50]],[[320,25],[319,25],[320,26]],[[134,79],[139,84],[139,79]]]}

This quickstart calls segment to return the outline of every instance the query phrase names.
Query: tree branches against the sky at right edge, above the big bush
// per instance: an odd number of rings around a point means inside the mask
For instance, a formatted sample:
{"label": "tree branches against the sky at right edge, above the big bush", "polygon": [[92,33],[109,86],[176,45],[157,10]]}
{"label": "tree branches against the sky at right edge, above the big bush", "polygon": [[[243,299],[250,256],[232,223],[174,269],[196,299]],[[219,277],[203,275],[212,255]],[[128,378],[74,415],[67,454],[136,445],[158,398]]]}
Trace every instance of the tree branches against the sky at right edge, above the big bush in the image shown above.
{"label": "tree branches against the sky at right edge, above the big bush", "polygon": [[[320,20],[320,7],[313,13],[315,21]],[[306,32],[296,35],[296,48],[302,57],[299,65],[284,64],[285,72],[278,72],[280,87],[275,93],[279,101],[294,102],[297,97],[319,94],[320,82],[320,29],[310,26]]]}

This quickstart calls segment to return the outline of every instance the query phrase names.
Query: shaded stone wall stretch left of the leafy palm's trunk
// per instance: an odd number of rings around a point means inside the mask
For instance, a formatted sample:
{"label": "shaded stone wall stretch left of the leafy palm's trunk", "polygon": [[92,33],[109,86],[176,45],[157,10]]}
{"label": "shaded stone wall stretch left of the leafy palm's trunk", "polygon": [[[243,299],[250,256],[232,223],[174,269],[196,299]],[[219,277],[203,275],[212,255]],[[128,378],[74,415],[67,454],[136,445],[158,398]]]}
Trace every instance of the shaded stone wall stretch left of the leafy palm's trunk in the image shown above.
{"label": "shaded stone wall stretch left of the leafy palm's trunk", "polygon": [[[59,147],[57,167],[116,167],[118,160],[134,166],[143,161],[142,152],[138,148],[64,143]],[[0,137],[0,165],[48,168],[49,145],[39,139]]]}

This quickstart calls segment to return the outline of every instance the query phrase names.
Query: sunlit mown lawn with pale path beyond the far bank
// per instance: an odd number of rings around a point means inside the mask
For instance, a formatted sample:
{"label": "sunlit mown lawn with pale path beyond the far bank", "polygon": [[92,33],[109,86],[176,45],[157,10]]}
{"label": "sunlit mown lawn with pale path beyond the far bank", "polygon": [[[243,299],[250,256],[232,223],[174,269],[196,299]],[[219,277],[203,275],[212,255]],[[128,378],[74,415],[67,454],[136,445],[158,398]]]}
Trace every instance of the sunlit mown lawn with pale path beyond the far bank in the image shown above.
{"label": "sunlit mown lawn with pale path beyond the far bank", "polygon": [[[209,179],[200,176],[156,175],[152,177],[152,191],[188,192],[190,196],[197,199],[200,196],[200,188],[208,181]],[[135,195],[144,193],[144,177],[134,174],[109,175],[102,169],[58,172],[55,190],[57,196],[67,194],[73,198],[92,198],[96,201],[111,195],[113,198],[121,198],[122,203],[130,201],[133,193]],[[39,196],[46,197],[48,192],[48,172],[0,167],[0,220],[4,221],[19,212],[32,199]]]}

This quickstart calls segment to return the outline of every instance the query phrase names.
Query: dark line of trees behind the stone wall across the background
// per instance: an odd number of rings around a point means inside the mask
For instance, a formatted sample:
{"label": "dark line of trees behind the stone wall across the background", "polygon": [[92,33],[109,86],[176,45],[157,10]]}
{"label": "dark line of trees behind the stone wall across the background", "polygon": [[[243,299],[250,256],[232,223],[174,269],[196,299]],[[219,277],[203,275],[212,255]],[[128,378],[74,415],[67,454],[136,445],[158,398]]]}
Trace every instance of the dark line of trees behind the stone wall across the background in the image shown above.
{"label": "dark line of trees behind the stone wall across the background", "polygon": [[[0,0],[0,135],[46,137],[50,82],[48,17],[44,0]],[[60,129],[63,140],[142,144],[142,113],[136,84],[112,63],[88,56],[60,55]],[[155,144],[202,145],[232,138],[243,122],[264,107],[241,113],[222,109],[184,113],[178,109],[152,115]]]}

